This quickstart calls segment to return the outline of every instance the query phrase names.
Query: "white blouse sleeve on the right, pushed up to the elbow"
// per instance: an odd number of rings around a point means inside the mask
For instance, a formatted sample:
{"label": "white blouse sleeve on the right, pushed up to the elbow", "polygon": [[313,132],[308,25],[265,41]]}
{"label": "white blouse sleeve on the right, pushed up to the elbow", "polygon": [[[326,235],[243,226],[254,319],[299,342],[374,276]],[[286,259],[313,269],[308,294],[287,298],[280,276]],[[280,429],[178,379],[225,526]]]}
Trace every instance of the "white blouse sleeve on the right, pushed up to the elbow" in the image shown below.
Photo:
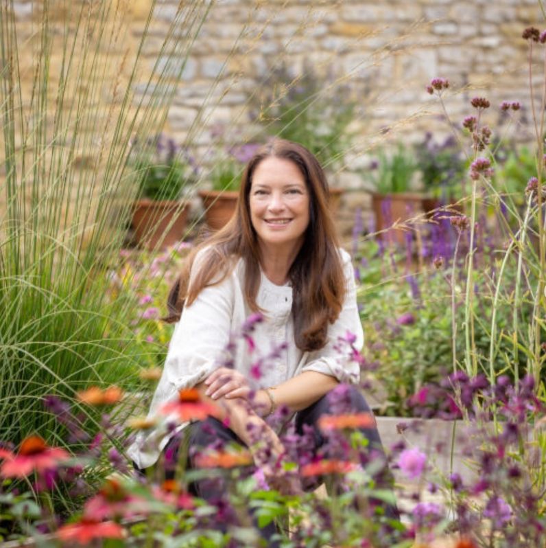
{"label": "white blouse sleeve on the right, pushed up to the elbow", "polygon": [[340,316],[328,328],[328,340],[320,350],[309,352],[304,371],[331,375],[340,383],[356,384],[360,379],[360,365],[353,348],[360,351],[364,332],[357,308],[357,290],[351,255],[340,250],[346,280],[346,293]]}

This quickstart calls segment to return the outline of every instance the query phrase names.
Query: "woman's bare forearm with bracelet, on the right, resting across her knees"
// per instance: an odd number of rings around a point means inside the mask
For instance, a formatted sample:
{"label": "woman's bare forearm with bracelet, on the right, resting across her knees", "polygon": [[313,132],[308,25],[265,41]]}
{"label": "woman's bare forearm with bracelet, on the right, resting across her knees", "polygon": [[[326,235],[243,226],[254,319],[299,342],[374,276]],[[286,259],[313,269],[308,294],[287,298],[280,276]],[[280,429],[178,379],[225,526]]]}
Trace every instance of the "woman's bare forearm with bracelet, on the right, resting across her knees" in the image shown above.
{"label": "woman's bare forearm with bracelet, on the right, resting across her knees", "polygon": [[[270,389],[270,393],[276,407],[286,405],[292,411],[301,411],[320,400],[324,394],[334,389],[338,384],[337,379],[333,376],[315,371],[305,371],[286,380],[274,389]],[[259,391],[258,397],[262,406],[270,406],[269,396],[265,391]]]}

